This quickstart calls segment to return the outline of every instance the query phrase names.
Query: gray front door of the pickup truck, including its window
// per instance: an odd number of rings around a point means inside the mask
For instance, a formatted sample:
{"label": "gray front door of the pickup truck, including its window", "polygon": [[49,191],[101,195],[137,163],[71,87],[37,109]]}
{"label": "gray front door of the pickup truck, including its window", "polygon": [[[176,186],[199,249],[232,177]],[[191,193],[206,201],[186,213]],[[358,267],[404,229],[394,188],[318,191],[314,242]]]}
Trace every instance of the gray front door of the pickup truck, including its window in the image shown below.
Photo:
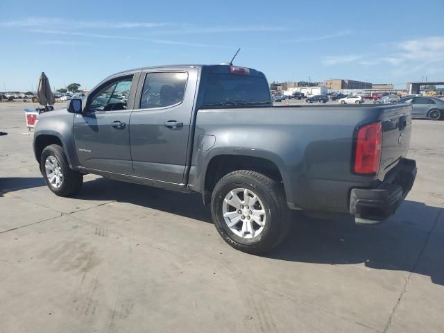
{"label": "gray front door of the pickup truck, including its window", "polygon": [[129,136],[131,89],[137,85],[133,78],[130,74],[108,80],[88,95],[83,112],[74,117],[74,139],[83,168],[133,174]]}

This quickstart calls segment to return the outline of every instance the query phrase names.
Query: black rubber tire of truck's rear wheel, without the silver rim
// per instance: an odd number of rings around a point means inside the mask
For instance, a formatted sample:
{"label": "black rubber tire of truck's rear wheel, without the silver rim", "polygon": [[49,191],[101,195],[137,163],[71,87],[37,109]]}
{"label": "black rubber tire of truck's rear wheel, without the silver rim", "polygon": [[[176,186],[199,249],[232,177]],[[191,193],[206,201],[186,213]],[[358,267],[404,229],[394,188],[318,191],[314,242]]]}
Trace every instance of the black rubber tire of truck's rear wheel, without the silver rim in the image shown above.
{"label": "black rubber tire of truck's rear wheel, without the silver rim", "polygon": [[[253,239],[234,234],[223,218],[225,196],[239,187],[253,191],[264,206],[266,223],[262,232]],[[280,244],[289,231],[289,209],[282,185],[255,171],[233,171],[219,180],[212,193],[211,212],[216,230],[223,240],[237,250],[254,255],[266,253]]]}

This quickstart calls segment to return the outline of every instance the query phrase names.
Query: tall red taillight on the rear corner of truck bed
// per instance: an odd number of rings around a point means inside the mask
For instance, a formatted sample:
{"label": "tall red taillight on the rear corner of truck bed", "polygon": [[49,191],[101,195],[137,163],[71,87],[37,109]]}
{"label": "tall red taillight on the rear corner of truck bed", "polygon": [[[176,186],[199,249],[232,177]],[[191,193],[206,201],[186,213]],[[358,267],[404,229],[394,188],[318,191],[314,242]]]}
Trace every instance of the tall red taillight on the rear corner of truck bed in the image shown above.
{"label": "tall red taillight on the rear corner of truck bed", "polygon": [[370,123],[359,128],[355,151],[355,173],[374,175],[381,162],[382,126]]}

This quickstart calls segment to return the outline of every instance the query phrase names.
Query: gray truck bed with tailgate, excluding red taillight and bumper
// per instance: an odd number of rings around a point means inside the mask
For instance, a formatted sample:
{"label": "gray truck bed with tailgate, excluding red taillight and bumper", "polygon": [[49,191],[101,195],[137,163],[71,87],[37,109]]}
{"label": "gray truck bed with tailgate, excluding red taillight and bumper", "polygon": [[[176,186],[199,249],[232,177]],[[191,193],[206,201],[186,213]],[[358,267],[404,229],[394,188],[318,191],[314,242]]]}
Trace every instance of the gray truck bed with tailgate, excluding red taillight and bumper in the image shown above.
{"label": "gray truck bed with tailgate, excluding red taillight and bumper", "polygon": [[[410,113],[409,105],[198,110],[190,187],[202,189],[203,184],[195,175],[205,172],[203,168],[212,156],[224,151],[230,155],[252,155],[271,160],[278,167],[289,207],[348,212],[351,188],[374,186],[407,154]],[[407,127],[399,144],[401,117],[407,119]],[[359,126],[377,121],[382,121],[383,128],[382,166],[375,176],[355,175],[351,165],[355,132]],[[199,151],[200,135],[216,138],[210,151]],[[348,194],[342,195],[343,192]]]}

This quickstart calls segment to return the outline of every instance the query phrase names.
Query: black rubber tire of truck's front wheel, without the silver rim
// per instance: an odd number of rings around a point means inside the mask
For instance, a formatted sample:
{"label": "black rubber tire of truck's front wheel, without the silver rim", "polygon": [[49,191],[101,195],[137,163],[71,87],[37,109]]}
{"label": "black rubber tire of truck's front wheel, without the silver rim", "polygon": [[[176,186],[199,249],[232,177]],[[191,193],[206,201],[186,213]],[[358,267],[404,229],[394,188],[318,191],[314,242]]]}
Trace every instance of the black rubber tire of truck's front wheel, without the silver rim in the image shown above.
{"label": "black rubber tire of truck's front wheel, without the silver rim", "polygon": [[[62,184],[57,188],[50,184],[48,176],[46,176],[45,162],[46,158],[49,156],[56,157],[58,163],[60,164],[60,170],[62,172]],[[82,188],[83,174],[69,168],[69,163],[65,152],[58,144],[51,144],[44,148],[42,156],[40,157],[40,171],[42,171],[42,176],[46,182],[46,185],[48,185],[49,189],[51,189],[51,191],[58,196],[72,196]]]}

